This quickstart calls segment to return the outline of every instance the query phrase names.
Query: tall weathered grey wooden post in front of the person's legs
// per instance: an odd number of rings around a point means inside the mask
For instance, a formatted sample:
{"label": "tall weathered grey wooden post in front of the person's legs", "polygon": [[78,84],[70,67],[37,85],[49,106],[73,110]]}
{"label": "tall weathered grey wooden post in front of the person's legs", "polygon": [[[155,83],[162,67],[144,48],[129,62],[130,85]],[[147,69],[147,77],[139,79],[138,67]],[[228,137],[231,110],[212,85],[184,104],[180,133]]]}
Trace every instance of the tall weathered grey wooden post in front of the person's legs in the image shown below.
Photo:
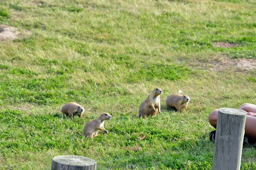
{"label": "tall weathered grey wooden post in front of the person's legs", "polygon": [[240,170],[246,113],[219,109],[212,170]]}

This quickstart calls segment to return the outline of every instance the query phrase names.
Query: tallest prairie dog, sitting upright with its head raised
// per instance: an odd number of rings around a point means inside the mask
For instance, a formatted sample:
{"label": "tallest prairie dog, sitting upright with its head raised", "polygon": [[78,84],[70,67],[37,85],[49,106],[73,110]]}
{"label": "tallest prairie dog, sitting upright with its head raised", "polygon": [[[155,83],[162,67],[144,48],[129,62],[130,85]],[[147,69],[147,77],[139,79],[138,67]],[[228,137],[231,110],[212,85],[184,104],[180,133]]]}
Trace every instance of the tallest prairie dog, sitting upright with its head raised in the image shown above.
{"label": "tallest prairie dog, sitting upright with its head raised", "polygon": [[161,112],[160,110],[160,94],[162,94],[161,88],[155,88],[148,98],[140,104],[139,108],[139,115],[138,118],[141,116],[145,118],[145,116],[156,116],[157,111]]}

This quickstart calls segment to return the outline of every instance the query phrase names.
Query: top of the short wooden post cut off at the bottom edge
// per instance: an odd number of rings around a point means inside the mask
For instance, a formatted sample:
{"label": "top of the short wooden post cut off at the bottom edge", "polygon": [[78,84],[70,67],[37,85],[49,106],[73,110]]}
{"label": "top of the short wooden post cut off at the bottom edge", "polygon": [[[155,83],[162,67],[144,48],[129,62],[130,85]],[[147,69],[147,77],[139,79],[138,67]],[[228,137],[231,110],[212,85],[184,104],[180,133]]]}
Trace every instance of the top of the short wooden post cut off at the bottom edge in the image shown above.
{"label": "top of the short wooden post cut off at the bottom edge", "polygon": [[51,170],[96,170],[96,161],[76,155],[55,156]]}

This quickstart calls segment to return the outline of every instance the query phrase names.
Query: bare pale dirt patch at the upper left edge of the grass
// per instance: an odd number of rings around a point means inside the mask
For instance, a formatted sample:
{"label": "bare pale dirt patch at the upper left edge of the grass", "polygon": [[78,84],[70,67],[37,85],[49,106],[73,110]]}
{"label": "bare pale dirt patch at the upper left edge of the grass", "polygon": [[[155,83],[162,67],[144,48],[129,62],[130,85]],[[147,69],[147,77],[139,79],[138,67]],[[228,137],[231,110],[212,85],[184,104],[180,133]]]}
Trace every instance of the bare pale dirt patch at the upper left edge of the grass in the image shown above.
{"label": "bare pale dirt patch at the upper left edge of the grass", "polygon": [[20,32],[13,26],[0,25],[0,40],[14,40],[18,37]]}

